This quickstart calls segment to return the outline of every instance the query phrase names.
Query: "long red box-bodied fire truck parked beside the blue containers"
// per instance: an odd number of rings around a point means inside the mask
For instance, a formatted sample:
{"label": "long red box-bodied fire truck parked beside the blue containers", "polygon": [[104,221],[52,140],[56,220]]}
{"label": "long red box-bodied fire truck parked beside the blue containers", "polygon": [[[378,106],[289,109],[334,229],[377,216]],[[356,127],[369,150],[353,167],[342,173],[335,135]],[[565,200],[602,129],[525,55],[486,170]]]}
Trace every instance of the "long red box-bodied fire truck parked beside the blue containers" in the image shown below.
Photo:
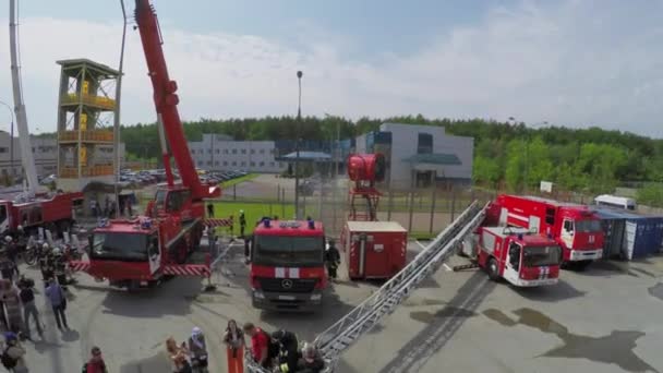
{"label": "long red box-bodied fire truck parked beside the blue containers", "polygon": [[603,253],[601,220],[584,205],[503,194],[489,208],[489,221],[551,234],[563,249],[563,262],[578,267]]}

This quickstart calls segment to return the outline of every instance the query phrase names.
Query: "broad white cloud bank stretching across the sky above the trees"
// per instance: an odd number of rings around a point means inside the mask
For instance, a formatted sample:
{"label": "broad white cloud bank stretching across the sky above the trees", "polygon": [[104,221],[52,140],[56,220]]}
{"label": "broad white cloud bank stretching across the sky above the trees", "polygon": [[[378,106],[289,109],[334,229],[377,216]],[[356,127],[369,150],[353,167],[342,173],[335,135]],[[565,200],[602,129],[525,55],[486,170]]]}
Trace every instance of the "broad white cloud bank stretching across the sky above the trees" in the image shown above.
{"label": "broad white cloud bank stretching across the sky above the trees", "polygon": [[[661,137],[663,33],[650,22],[653,19],[640,16],[647,9],[625,12],[625,7],[568,1],[497,8],[473,26],[438,35],[417,53],[385,51],[378,62],[348,59],[345,38],[326,39],[320,31],[311,33],[301,50],[268,36],[200,35],[166,29],[169,25],[164,25],[164,37],[185,119],[294,113],[294,72],[301,69],[304,113],[515,116],[528,122],[595,124]],[[22,20],[25,96],[33,123],[55,129],[55,61],[86,57],[114,67],[120,33],[116,23]],[[1,61],[9,61],[7,40],[7,29],[0,29]],[[0,98],[10,99],[8,65],[4,71]],[[137,32],[130,29],[125,123],[154,120],[145,72]]]}

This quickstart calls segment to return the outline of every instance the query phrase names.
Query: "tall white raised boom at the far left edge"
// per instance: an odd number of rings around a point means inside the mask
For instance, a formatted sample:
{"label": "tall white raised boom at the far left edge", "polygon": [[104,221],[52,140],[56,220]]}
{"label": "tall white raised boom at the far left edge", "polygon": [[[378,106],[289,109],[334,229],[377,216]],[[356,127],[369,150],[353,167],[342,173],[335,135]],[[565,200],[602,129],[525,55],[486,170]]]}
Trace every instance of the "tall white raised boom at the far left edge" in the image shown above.
{"label": "tall white raised boom at the far left edge", "polygon": [[[16,125],[19,128],[19,142],[21,147],[21,164],[27,180],[27,195],[24,198],[32,198],[37,193],[39,180],[33,156],[33,146],[29,141],[29,130],[27,127],[27,113],[25,112],[25,101],[23,99],[23,86],[21,84],[21,67],[19,65],[19,29],[16,23],[16,1],[9,2],[9,39],[10,58],[12,70],[12,91],[14,96],[14,112],[16,115]],[[11,139],[11,141],[14,141]],[[13,168],[14,165],[11,166]]]}

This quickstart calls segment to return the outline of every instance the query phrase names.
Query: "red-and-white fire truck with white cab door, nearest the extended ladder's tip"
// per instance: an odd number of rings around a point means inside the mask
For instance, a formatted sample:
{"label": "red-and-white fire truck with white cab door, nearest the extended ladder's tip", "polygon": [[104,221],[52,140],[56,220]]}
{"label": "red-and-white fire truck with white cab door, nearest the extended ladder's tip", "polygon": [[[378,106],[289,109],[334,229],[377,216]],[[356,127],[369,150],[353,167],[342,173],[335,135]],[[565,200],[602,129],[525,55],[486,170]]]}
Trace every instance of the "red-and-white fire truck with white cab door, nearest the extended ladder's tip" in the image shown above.
{"label": "red-and-white fire truck with white cab door, nearest the extended ladder's tip", "polygon": [[491,279],[518,287],[557,284],[562,249],[552,238],[514,227],[480,227],[478,236],[477,264]]}

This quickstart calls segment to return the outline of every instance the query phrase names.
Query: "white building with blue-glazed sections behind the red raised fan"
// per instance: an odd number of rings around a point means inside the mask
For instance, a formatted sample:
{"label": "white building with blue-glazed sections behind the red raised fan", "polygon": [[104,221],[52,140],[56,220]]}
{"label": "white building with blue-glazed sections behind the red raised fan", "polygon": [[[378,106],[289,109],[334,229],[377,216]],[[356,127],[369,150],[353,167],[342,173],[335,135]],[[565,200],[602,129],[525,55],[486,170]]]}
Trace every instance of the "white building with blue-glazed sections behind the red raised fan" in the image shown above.
{"label": "white building with blue-glazed sections behind the red raised fan", "polygon": [[426,185],[433,179],[470,184],[473,151],[474,139],[448,135],[436,125],[383,123],[379,131],[355,140],[357,153],[385,155],[385,183],[394,189]]}

